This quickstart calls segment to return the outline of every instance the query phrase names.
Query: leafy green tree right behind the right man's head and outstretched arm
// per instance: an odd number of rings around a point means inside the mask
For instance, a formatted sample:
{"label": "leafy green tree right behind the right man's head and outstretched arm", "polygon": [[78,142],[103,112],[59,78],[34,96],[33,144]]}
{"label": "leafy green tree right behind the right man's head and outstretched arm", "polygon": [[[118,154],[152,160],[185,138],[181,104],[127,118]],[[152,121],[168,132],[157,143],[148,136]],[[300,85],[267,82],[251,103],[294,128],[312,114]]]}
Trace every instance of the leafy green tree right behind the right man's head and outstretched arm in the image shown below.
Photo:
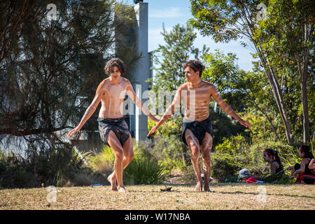
{"label": "leafy green tree right behind the right man's head and outstretched arm", "polygon": [[[281,141],[276,128],[266,111],[266,97],[269,94],[267,83],[261,73],[246,72],[235,65],[236,55],[224,55],[220,50],[204,56],[206,69],[202,73],[204,80],[214,83],[221,97],[232,108],[242,111],[253,108],[267,119],[276,138]],[[268,106],[267,106],[268,107]]]}

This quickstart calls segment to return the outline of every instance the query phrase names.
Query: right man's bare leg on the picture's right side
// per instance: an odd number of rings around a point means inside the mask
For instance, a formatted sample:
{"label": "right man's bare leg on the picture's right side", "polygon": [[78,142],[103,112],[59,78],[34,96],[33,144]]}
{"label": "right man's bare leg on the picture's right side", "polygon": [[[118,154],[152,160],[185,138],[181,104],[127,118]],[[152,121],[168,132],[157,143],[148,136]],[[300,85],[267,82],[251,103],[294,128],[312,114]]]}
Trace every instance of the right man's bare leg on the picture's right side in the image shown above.
{"label": "right man's bare leg on the picture's right side", "polygon": [[212,137],[207,132],[204,139],[202,139],[202,144],[200,146],[202,151],[203,159],[203,169],[204,169],[204,191],[211,191],[209,188],[209,179],[211,173],[211,157],[210,152],[212,148]]}

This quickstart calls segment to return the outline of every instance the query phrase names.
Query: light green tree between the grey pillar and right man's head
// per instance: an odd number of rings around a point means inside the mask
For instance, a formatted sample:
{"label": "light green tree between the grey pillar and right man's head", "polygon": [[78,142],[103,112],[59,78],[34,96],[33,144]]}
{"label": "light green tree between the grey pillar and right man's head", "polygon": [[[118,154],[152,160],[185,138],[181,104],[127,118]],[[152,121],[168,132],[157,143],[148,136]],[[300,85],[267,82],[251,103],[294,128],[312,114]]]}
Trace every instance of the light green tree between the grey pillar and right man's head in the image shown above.
{"label": "light green tree between the grey pillar and right man's head", "polygon": [[204,45],[202,50],[195,48],[193,43],[197,34],[190,25],[175,25],[169,33],[163,25],[162,36],[165,45],[159,45],[153,51],[154,85],[153,90],[177,90],[185,83],[183,64],[189,59],[202,59],[209,51]]}

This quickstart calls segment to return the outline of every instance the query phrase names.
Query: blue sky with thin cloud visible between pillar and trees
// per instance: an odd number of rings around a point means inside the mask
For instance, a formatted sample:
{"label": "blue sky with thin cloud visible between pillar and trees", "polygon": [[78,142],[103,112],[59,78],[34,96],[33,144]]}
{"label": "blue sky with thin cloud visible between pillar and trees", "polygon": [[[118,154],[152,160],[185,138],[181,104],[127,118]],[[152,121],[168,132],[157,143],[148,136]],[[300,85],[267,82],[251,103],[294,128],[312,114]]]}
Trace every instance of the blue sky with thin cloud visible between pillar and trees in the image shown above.
{"label": "blue sky with thin cloud visible between pillar and trees", "polygon": [[[123,0],[128,5],[134,5],[133,0]],[[163,45],[162,24],[164,23],[167,31],[171,30],[176,24],[185,25],[186,22],[193,18],[190,12],[190,0],[144,0],[148,2],[148,50],[155,50],[158,45]],[[197,38],[195,47],[202,49],[203,45],[210,48],[211,52],[215,49],[221,49],[225,54],[233,52],[237,55],[238,65],[240,69],[245,71],[251,70],[253,67],[251,62],[253,51],[244,48],[239,41],[231,41],[230,43],[215,43],[211,37],[203,37],[200,32],[195,29]]]}

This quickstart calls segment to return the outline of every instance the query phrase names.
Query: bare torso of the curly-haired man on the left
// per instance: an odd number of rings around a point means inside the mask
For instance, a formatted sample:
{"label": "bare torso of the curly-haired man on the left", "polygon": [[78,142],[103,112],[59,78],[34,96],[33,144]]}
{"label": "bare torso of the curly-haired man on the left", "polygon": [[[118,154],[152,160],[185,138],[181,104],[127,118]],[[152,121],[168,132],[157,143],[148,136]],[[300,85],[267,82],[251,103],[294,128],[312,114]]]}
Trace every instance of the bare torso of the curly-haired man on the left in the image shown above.
{"label": "bare torso of the curly-haired man on the left", "polygon": [[104,90],[99,110],[99,118],[121,118],[123,117],[123,102],[127,87],[130,82],[126,78],[120,77],[117,84],[111,83],[109,78],[102,81],[100,88]]}

